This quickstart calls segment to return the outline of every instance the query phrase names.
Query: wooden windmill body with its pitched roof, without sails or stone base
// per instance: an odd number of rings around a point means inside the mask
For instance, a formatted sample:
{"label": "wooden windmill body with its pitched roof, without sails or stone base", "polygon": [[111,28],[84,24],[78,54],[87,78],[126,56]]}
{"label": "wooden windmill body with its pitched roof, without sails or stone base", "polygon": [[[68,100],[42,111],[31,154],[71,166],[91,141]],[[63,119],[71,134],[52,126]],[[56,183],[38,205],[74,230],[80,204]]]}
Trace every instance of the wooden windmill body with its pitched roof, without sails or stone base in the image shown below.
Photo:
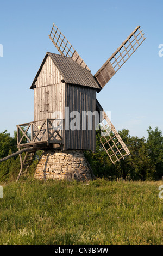
{"label": "wooden windmill body with its pitched roof, without sails or stone base", "polygon": [[[30,89],[34,89],[34,121],[49,119],[53,122],[54,112],[61,112],[62,119],[67,121],[62,127],[64,141],[60,145],[55,143],[57,134],[54,133],[49,144],[63,150],[96,150],[95,121],[92,120],[91,130],[82,129],[82,114],[96,111],[96,91],[101,89],[89,71],[70,57],[47,52]],[[73,111],[81,118],[77,120],[76,130],[70,129]],[[65,126],[68,126],[66,130]]]}

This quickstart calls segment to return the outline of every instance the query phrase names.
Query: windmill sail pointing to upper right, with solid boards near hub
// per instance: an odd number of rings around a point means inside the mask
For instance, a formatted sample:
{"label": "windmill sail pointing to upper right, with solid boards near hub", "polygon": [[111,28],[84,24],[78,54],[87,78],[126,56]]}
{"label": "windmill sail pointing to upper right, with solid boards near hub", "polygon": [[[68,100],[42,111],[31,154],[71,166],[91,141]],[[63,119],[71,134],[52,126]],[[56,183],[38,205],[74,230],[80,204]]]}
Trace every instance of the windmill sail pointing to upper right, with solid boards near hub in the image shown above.
{"label": "windmill sail pointing to upper right, with solid boards near hub", "polygon": [[136,51],[142,42],[145,41],[145,39],[144,34],[142,34],[142,31],[140,30],[140,26],[136,27],[121,46],[118,47],[108,60],[106,60],[104,65],[94,76],[102,88]]}

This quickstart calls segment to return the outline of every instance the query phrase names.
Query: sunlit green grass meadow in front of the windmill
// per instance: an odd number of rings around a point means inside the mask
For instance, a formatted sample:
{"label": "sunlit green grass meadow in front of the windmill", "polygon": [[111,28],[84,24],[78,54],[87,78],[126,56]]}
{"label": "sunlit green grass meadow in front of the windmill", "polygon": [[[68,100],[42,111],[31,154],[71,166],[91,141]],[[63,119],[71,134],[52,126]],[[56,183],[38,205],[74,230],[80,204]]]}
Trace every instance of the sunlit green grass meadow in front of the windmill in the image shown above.
{"label": "sunlit green grass meadow in front of the windmill", "polygon": [[163,181],[12,183],[0,199],[0,245],[163,245]]}

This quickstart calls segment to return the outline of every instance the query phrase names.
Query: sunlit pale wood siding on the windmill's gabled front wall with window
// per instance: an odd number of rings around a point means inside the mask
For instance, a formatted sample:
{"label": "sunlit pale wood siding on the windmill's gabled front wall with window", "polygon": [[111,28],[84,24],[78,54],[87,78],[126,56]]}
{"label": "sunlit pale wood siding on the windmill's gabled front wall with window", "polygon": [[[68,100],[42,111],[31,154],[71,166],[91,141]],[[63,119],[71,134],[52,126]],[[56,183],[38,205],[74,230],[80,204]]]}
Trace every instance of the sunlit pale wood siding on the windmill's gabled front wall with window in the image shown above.
{"label": "sunlit pale wood siding on the windmill's gabled front wall with window", "polygon": [[65,83],[48,56],[36,81],[34,89],[34,121],[52,118],[54,111],[64,113]]}

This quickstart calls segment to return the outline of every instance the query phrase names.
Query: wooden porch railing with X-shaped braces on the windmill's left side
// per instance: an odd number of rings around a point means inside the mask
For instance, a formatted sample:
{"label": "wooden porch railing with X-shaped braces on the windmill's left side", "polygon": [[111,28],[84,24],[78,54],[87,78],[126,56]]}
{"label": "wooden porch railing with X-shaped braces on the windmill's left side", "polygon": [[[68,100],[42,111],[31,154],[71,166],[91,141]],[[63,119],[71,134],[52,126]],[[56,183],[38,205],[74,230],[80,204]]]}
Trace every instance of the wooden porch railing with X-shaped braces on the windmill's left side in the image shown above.
{"label": "wooden porch railing with X-shaped braces on the windmill's left side", "polygon": [[17,125],[17,148],[42,143],[64,143],[63,119],[45,119]]}

